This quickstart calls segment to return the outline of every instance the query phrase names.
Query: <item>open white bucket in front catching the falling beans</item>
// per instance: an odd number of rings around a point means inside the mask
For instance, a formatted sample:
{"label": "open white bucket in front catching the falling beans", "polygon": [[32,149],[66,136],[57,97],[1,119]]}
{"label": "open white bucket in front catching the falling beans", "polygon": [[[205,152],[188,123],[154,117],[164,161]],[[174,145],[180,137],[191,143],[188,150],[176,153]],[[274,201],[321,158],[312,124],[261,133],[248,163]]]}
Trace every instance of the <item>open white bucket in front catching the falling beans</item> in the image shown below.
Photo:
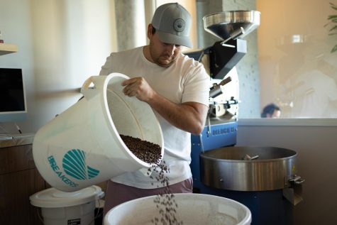
{"label": "open white bucket in front catching the falling beans", "polygon": [[[156,196],[120,204],[104,216],[104,225],[150,225],[160,218]],[[209,194],[175,194],[176,218],[184,225],[248,225],[252,217],[245,205]]]}

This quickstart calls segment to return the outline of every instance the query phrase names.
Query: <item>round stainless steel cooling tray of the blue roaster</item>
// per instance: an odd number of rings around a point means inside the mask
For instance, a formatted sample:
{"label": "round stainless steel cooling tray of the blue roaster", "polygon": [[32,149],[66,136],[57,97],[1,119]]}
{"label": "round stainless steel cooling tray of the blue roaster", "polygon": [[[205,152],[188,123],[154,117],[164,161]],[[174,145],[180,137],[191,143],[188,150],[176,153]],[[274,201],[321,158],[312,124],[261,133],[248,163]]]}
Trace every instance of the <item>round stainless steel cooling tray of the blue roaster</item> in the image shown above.
{"label": "round stainless steel cooling tray of the blue roaster", "polygon": [[[245,155],[258,155],[243,160]],[[279,190],[294,177],[294,150],[274,147],[234,146],[200,155],[201,182],[209,187],[236,191]]]}

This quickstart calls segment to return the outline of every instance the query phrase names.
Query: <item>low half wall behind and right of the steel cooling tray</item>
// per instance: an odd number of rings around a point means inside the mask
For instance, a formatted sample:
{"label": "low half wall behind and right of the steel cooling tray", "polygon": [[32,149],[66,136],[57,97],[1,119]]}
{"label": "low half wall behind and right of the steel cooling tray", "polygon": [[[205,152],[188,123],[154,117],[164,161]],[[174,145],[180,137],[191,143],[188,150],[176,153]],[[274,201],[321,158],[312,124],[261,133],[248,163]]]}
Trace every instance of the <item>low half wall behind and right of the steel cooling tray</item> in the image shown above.
{"label": "low half wall behind and right of the steel cooling tray", "polygon": [[294,207],[295,225],[337,224],[336,133],[336,126],[259,126],[256,122],[246,126],[239,122],[238,146],[297,151],[297,172],[306,181],[304,200]]}

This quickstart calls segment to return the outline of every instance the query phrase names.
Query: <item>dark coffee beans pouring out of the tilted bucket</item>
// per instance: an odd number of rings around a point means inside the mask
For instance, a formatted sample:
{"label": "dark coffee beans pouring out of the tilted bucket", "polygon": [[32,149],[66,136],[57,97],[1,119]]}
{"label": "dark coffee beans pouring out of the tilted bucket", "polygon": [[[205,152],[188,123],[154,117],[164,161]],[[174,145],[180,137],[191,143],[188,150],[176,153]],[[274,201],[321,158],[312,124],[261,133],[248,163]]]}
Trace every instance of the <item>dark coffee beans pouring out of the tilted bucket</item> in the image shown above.
{"label": "dark coffee beans pouring out of the tilted bucket", "polygon": [[170,169],[165,165],[165,161],[160,163],[160,159],[162,158],[161,147],[158,144],[143,141],[140,138],[133,138],[122,134],[120,136],[126,146],[128,146],[128,149],[137,158],[153,165],[152,168],[149,168],[148,175],[151,174],[151,171],[155,172],[157,176],[153,177],[150,175],[150,178],[157,180],[162,187],[165,187],[165,192],[158,194],[154,199],[160,216],[152,219],[152,223],[155,225],[182,225],[183,222],[177,220],[178,204],[175,201],[175,195],[170,191],[170,182],[166,176],[170,172]]}

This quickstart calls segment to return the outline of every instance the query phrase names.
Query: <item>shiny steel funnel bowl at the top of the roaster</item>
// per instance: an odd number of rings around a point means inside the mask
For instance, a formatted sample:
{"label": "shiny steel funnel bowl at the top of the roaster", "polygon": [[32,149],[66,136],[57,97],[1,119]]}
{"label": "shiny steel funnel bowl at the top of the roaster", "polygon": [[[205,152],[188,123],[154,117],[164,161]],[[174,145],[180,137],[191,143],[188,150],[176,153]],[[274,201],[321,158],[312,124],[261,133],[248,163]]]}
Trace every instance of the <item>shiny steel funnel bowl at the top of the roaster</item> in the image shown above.
{"label": "shiny steel funnel bowl at the top of the roaster", "polygon": [[204,16],[204,29],[223,40],[243,38],[260,26],[259,11],[224,11]]}

